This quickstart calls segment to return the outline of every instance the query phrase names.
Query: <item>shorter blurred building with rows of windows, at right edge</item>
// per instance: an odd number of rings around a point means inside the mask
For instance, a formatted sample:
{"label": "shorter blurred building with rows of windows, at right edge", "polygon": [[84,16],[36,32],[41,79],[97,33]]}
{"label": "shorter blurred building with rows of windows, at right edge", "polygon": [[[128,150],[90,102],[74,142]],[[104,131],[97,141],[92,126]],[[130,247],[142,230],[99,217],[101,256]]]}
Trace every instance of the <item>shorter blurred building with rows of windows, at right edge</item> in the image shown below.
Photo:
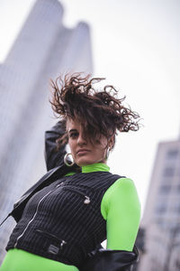
{"label": "shorter blurred building with rows of windows, at right edge", "polygon": [[180,139],[157,147],[141,226],[145,253],[139,271],[180,270]]}

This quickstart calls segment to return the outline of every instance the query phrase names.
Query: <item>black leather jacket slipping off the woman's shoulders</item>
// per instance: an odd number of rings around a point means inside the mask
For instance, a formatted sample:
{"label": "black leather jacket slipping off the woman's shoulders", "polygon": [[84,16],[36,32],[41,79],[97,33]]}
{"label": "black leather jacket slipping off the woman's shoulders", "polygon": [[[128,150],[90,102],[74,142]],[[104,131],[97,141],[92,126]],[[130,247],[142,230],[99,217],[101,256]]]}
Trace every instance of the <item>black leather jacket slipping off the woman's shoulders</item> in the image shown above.
{"label": "black leather jacket slipping off the woman's shoulders", "polygon": [[[27,192],[23,194],[19,201],[14,203],[12,210],[7,217],[13,216],[14,220],[19,221],[22,217],[24,207],[31,196],[49,185],[58,176],[63,176],[69,171],[79,171],[75,164],[73,168],[64,164],[63,157],[66,154],[66,146],[56,151],[56,139],[64,134],[64,125],[59,121],[49,131],[45,132],[45,160],[48,173],[42,176]],[[3,221],[4,222],[4,221]],[[80,271],[130,271],[134,263],[138,261],[139,253],[136,246],[133,251],[103,249],[101,245],[92,251],[82,263]]]}

